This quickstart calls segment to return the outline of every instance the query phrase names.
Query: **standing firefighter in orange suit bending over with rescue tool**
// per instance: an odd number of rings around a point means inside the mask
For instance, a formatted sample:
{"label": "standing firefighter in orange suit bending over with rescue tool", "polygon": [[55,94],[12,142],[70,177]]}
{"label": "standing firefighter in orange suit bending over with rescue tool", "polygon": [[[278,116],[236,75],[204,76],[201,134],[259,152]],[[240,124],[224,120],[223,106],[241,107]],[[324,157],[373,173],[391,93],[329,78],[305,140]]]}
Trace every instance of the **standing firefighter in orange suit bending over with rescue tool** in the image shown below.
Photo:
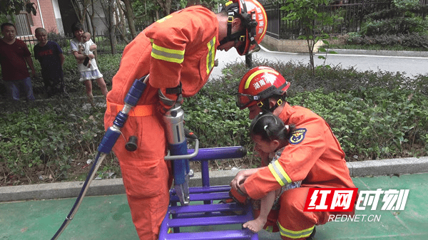
{"label": "standing firefighter in orange suit bending over with rescue tool", "polygon": [[[169,204],[172,173],[164,157],[168,134],[163,114],[198,93],[215,65],[215,51],[240,55],[260,49],[267,19],[255,0],[233,0],[218,14],[190,6],[148,26],[126,46],[104,118],[110,127],[135,79],[148,75],[145,92],[121,129],[113,152],[121,165],[133,223],[140,239],[157,239]],[[137,149],[124,147],[136,136]]]}

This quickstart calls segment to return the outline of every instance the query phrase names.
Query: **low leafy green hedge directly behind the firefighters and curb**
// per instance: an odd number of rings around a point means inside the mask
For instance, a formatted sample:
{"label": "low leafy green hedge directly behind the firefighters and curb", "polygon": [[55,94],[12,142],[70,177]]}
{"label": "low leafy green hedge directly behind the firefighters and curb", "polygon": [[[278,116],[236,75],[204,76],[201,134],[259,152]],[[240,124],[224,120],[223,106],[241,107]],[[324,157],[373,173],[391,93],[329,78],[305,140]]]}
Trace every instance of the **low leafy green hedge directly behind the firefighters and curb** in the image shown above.
{"label": "low leafy green hedge directly behind the firefighters and curb", "polygon": [[[102,72],[113,75],[119,59],[100,56]],[[401,73],[358,72],[336,66],[319,68],[314,77],[309,66],[302,63],[256,59],[253,65],[275,68],[292,83],[287,100],[325,118],[348,161],[428,155],[427,75],[407,78]],[[73,69],[66,71],[68,88],[79,89],[84,95]],[[200,93],[185,100],[185,125],[199,135],[201,147],[243,145],[253,149],[247,132],[248,110],[239,110],[233,98],[246,71],[243,63],[231,63],[223,78],[211,80]],[[83,169],[95,157],[104,133],[104,108],[86,109],[84,103],[79,98],[53,98],[32,104],[1,104],[0,185],[85,176]],[[212,167],[257,164],[249,154],[243,160],[214,161]],[[99,173],[106,172],[116,172],[120,177],[113,154]]]}

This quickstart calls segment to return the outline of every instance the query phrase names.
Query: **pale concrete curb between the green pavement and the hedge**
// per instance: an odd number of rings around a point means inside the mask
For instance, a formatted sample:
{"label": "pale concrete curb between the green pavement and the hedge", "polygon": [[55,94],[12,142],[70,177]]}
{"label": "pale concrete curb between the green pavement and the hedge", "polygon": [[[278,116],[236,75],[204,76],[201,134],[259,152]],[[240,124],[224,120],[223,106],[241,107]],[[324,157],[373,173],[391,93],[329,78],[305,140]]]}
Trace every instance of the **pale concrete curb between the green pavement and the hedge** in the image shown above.
{"label": "pale concrete curb between the green pavement and the hedge", "polygon": [[[381,176],[388,174],[414,174],[428,172],[428,157],[408,157],[389,160],[347,162],[351,177]],[[210,172],[210,184],[226,185],[240,169]],[[195,172],[190,186],[201,185],[201,174]],[[58,182],[13,187],[0,187],[0,202],[14,202],[29,199],[61,199],[77,197],[83,182]],[[124,194],[123,181],[119,179],[93,180],[86,196]]]}

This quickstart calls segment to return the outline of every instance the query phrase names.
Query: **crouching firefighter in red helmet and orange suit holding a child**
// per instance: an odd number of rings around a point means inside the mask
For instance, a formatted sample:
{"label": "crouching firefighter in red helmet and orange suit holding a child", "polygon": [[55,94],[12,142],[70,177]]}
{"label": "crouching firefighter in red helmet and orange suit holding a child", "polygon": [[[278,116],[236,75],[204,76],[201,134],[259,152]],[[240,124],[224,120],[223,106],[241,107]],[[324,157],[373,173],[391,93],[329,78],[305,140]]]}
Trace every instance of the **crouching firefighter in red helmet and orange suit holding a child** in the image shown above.
{"label": "crouching firefighter in red helmet and orange suit holding a child", "polygon": [[[287,190],[280,196],[280,209],[270,212],[265,229],[280,231],[282,239],[311,239],[315,225],[325,224],[330,214],[353,215],[355,212],[304,212],[309,188],[354,188],[355,185],[345,162],[345,152],[330,126],[311,110],[290,106],[285,101],[289,86],[280,73],[267,67],[251,69],[240,81],[237,105],[241,109],[249,108],[250,119],[270,111],[285,125],[294,124],[295,130],[278,160],[255,173],[251,169],[238,172],[231,187],[251,199],[260,199],[285,184],[302,181],[300,188]],[[265,157],[262,153],[262,160]],[[269,226],[275,221],[277,226]]]}

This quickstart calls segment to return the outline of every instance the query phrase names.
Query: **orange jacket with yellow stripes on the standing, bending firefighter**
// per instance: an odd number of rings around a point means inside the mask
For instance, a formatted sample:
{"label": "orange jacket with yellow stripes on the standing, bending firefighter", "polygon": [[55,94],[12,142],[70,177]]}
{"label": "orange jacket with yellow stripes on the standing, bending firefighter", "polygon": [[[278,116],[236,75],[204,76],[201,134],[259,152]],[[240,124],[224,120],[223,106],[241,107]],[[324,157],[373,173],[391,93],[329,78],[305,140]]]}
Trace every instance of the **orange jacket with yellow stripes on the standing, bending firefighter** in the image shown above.
{"label": "orange jacket with yellow stripes on the standing, bending firefighter", "polygon": [[[113,88],[107,95],[109,105],[123,105],[133,81],[149,73],[148,87],[138,105],[158,105],[158,88],[174,88],[180,82],[184,97],[195,95],[208,80],[218,45],[218,20],[212,11],[192,6],[166,16],[126,46],[119,71],[113,77]],[[107,109],[106,127],[112,125],[118,110],[121,108]],[[158,120],[146,124],[163,125]],[[126,135],[128,129],[131,132]],[[141,128],[126,124],[123,132],[128,138],[137,130]],[[145,130],[145,136],[138,139],[138,151],[144,151],[145,158],[163,157],[165,144],[153,140],[163,138],[164,133],[153,132],[151,127]],[[117,145],[115,149],[123,149],[123,145]]]}

